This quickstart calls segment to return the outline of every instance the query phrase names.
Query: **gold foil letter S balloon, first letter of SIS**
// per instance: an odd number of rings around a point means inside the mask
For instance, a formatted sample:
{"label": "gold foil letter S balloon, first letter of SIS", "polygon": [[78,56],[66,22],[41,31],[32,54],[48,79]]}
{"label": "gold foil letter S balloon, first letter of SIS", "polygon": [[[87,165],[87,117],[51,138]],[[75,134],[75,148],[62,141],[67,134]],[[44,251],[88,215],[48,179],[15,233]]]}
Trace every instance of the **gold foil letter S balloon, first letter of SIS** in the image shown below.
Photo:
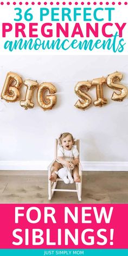
{"label": "gold foil letter S balloon, first letter of SIS", "polygon": [[92,104],[92,99],[85,93],[91,88],[91,84],[88,81],[81,81],[78,82],[75,86],[75,94],[78,95],[84,102],[82,103],[81,100],[78,100],[75,103],[75,107],[80,108],[80,110],[86,110]]}

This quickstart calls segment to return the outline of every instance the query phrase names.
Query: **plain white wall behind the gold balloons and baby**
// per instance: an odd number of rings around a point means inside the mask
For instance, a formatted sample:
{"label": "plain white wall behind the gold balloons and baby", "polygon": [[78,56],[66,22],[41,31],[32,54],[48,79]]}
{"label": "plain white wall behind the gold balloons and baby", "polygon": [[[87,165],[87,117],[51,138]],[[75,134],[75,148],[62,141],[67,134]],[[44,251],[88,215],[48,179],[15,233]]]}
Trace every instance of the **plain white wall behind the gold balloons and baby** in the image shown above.
{"label": "plain white wall behind the gold balloons and baby", "polygon": [[[123,102],[111,100],[113,90],[105,86],[108,104],[78,110],[74,104],[78,97],[74,87],[78,81],[92,80],[119,71],[128,85],[127,56],[1,56],[0,91],[9,71],[22,79],[52,82],[57,89],[57,104],[43,111],[37,104],[24,110],[19,104],[0,100],[0,168],[7,161],[50,161],[54,156],[54,138],[69,131],[80,138],[81,161],[126,162],[128,145],[128,98]],[[21,89],[25,97],[25,86]],[[93,101],[95,88],[88,92]],[[9,162],[8,162],[9,163]],[[22,169],[17,166],[17,169]]]}

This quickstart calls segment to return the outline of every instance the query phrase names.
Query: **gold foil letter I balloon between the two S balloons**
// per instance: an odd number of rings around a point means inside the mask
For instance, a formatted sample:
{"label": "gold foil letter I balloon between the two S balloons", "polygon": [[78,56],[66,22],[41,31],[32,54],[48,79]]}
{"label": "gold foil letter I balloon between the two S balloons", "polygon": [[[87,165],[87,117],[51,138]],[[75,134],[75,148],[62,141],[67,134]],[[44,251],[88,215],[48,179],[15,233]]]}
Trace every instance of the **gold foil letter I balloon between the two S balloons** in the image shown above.
{"label": "gold foil letter I balloon between the two S balloons", "polygon": [[94,101],[94,106],[102,107],[107,104],[107,99],[104,98],[103,86],[106,84],[105,78],[95,78],[92,80],[92,85],[96,86],[97,100]]}

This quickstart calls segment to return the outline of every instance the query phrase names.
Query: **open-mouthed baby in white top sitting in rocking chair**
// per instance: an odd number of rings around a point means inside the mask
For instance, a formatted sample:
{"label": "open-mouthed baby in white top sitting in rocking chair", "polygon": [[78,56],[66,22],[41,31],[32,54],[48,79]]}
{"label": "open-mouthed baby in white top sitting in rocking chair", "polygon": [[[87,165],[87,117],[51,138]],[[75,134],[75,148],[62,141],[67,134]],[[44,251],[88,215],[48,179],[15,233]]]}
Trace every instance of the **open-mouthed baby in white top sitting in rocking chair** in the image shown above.
{"label": "open-mouthed baby in white top sitting in rocking chair", "polygon": [[59,137],[60,148],[57,152],[57,159],[52,165],[52,174],[49,178],[50,181],[55,182],[57,175],[56,171],[60,170],[63,167],[71,168],[71,162],[74,165],[73,169],[73,178],[74,182],[80,182],[79,176],[79,152],[75,148],[74,139],[71,133],[65,132],[62,133]]}

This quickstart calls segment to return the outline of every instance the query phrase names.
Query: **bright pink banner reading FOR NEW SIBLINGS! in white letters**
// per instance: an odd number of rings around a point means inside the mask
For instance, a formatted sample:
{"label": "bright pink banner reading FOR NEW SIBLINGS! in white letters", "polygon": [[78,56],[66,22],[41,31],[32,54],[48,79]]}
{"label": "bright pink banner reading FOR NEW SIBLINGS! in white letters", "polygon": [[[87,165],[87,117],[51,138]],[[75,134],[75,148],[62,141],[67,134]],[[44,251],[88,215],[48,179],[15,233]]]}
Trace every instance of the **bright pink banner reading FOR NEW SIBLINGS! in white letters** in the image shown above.
{"label": "bright pink banner reading FOR NEW SIBLINGS! in white letters", "polygon": [[128,248],[128,204],[1,204],[0,248]]}

